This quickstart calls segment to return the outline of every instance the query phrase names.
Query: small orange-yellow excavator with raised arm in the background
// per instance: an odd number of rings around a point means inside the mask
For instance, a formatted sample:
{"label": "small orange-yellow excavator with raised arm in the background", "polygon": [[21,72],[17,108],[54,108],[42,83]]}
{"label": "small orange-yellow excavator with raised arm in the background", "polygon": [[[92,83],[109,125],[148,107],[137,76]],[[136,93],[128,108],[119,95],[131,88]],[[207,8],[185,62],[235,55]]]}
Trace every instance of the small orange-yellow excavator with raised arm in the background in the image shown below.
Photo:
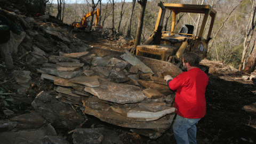
{"label": "small orange-yellow excavator with raised arm in the background", "polygon": [[92,24],[91,24],[91,21],[87,20],[87,18],[89,18],[90,16],[92,16],[94,14],[96,15],[94,27],[95,27],[95,29],[99,29],[98,22],[99,22],[99,18],[100,18],[100,9],[97,9],[96,11],[92,11],[92,12],[85,14],[82,19],[82,22],[73,22],[72,26],[74,26],[74,31],[83,30],[85,32],[89,32],[92,27]]}

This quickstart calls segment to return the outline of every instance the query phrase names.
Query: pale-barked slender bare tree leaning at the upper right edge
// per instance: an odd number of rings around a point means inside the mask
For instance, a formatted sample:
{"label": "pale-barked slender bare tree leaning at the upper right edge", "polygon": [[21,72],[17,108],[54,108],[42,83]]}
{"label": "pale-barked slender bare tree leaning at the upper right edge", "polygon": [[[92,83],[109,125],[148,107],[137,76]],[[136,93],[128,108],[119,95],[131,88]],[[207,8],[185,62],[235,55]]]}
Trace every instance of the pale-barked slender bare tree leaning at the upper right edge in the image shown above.
{"label": "pale-barked slender bare tree leaning at the upper right edge", "polygon": [[243,67],[245,66],[245,63],[244,63],[245,55],[247,53],[248,47],[250,45],[250,41],[251,41],[253,33],[254,33],[254,29],[256,26],[256,21],[254,21],[255,11],[256,11],[255,0],[253,0],[250,21],[248,22],[247,27],[246,27],[246,34],[245,34],[245,39],[244,39],[244,51],[243,51],[241,63],[239,65],[239,69],[238,69],[239,71],[241,71],[243,69]]}

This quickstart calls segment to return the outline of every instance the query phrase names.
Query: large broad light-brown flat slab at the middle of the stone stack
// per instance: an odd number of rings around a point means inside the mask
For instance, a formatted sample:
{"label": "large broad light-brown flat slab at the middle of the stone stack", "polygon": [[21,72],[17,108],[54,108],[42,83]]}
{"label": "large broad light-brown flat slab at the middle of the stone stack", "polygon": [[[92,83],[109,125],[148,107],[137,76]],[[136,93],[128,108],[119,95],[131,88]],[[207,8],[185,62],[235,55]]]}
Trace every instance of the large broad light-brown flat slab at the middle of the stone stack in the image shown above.
{"label": "large broad light-brown flat slab at the middle of the stone stack", "polygon": [[138,103],[139,101],[146,99],[146,96],[137,86],[114,83],[106,80],[100,83],[100,87],[85,87],[84,91],[97,96],[99,99],[118,104]]}

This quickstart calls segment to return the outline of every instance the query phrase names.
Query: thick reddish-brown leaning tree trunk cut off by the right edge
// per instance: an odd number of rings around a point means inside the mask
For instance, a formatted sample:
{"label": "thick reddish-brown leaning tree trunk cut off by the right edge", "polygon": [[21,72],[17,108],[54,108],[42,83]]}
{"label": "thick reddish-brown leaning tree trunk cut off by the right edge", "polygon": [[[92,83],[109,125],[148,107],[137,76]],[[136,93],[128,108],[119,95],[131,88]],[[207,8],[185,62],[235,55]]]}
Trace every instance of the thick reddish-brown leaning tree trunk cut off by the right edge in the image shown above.
{"label": "thick reddish-brown leaning tree trunk cut off by the right edge", "polygon": [[[255,46],[255,42],[254,42],[254,46]],[[245,65],[243,72],[250,74],[255,70],[255,66],[256,66],[256,48],[254,47],[251,55],[248,58],[248,61]]]}

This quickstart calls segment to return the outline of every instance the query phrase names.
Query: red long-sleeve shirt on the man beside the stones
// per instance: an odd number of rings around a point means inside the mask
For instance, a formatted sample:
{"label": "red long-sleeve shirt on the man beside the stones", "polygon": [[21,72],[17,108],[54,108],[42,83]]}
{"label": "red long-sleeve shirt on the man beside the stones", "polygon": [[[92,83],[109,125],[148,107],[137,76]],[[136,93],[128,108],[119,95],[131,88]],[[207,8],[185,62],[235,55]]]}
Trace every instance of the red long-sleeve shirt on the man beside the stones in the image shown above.
{"label": "red long-sleeve shirt on the man beside the stones", "polygon": [[177,90],[174,107],[175,113],[185,118],[202,118],[206,113],[205,89],[209,78],[199,68],[182,72],[168,81],[172,90]]}

